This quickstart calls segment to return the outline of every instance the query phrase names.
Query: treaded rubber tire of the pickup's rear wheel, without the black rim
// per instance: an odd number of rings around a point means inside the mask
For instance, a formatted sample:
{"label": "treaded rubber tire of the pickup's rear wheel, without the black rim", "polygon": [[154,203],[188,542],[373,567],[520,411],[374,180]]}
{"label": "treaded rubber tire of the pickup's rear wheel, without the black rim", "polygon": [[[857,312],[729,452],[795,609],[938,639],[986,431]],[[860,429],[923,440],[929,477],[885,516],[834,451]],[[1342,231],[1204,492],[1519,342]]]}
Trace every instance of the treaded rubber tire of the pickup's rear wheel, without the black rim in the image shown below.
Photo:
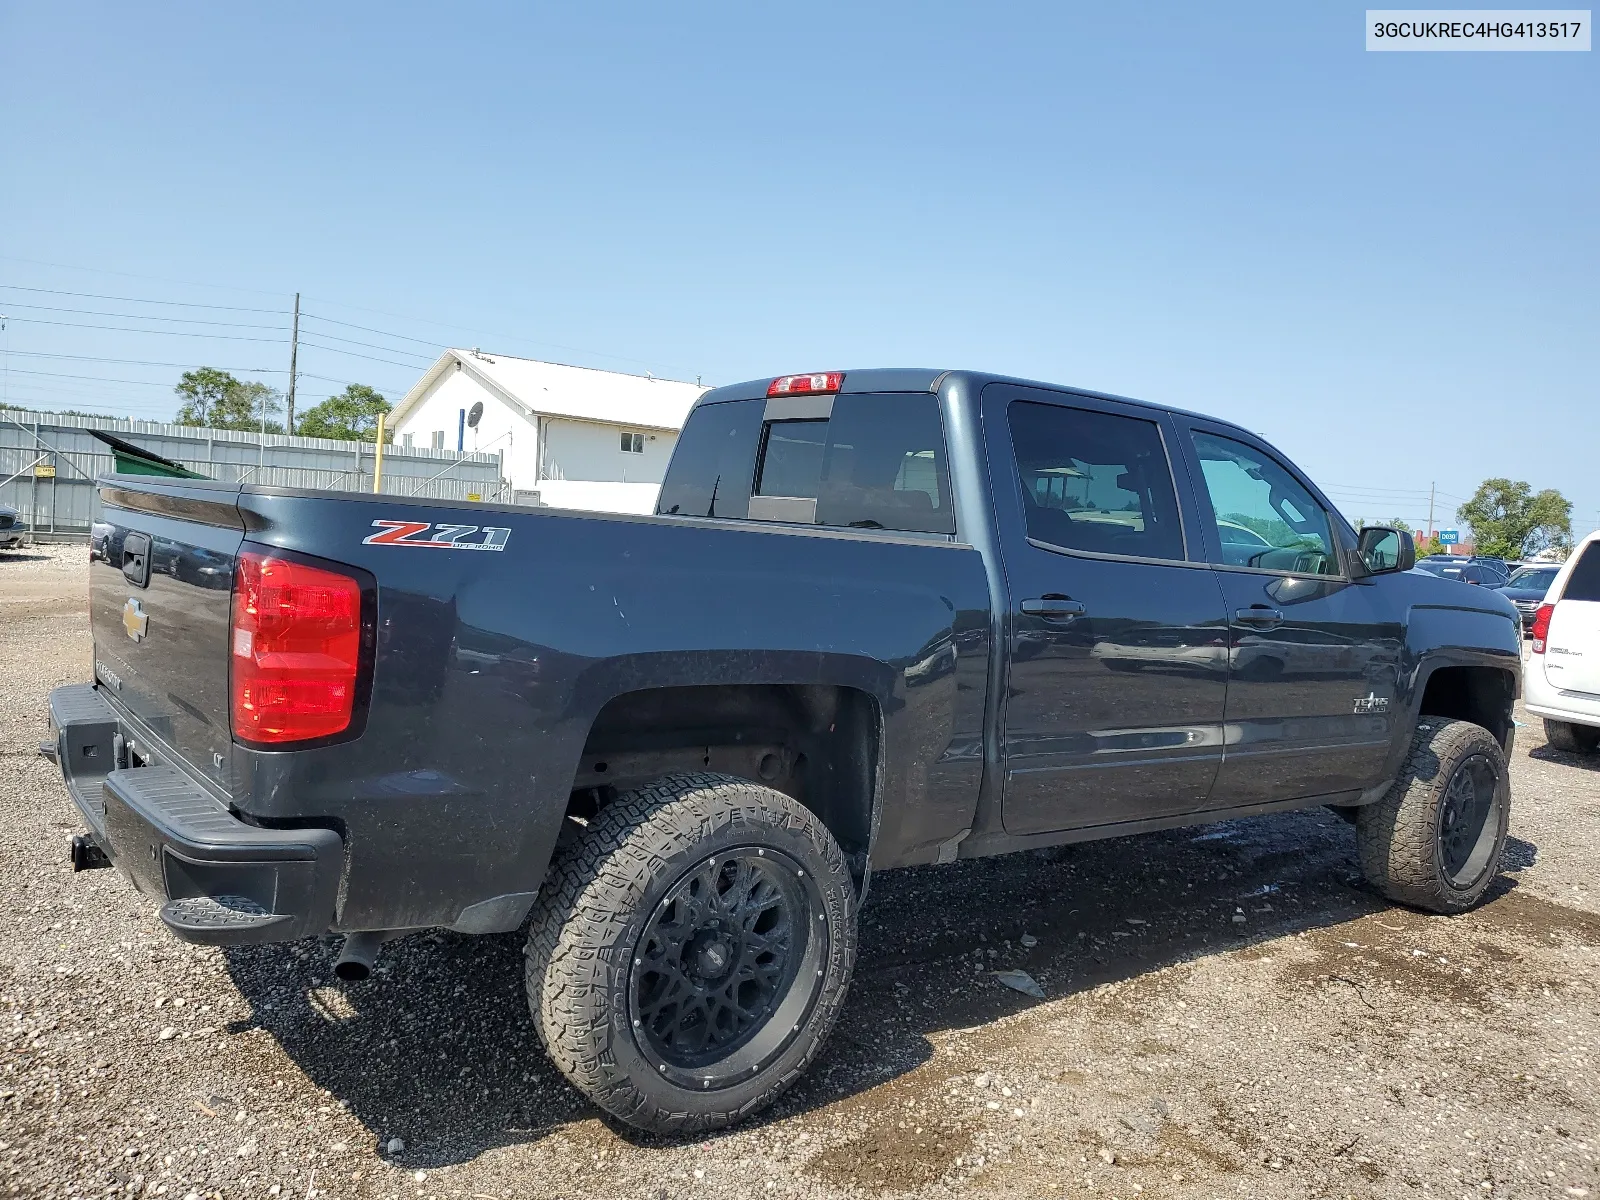
{"label": "treaded rubber tire of the pickup's rear wheel, without the black rim", "polygon": [[[810,843],[827,883],[845,898],[845,918],[830,925],[837,952],[806,1027],[803,1054],[736,1107],[717,1107],[718,1093],[688,1110],[669,1110],[640,1091],[610,1053],[606,947],[666,862],[728,822],[781,824]],[[819,875],[818,883],[826,877]],[[558,850],[534,909],[525,950],[525,982],[534,1027],[560,1072],[597,1106],[640,1130],[670,1136],[733,1125],[771,1104],[805,1074],[834,1027],[856,954],[856,912],[843,851],[827,827],[797,800],[749,779],[710,771],[677,773],[618,797],[584,834]],[[837,928],[843,925],[843,928]],[[629,947],[622,947],[622,954]],[[787,1056],[790,1058],[792,1056]],[[774,1064],[776,1066],[776,1064]],[[758,1077],[757,1077],[758,1078]]]}

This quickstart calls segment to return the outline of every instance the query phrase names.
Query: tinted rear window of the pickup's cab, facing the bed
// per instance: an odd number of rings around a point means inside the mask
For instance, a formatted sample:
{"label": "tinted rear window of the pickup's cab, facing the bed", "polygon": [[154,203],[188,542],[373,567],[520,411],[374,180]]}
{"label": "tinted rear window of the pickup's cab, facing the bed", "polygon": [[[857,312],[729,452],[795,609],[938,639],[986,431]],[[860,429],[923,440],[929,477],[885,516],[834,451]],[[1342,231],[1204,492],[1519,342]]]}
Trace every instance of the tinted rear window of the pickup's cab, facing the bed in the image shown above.
{"label": "tinted rear window of the pickup's cab, facing the bed", "polygon": [[704,405],[683,429],[656,510],[955,533],[939,402],[894,392]]}

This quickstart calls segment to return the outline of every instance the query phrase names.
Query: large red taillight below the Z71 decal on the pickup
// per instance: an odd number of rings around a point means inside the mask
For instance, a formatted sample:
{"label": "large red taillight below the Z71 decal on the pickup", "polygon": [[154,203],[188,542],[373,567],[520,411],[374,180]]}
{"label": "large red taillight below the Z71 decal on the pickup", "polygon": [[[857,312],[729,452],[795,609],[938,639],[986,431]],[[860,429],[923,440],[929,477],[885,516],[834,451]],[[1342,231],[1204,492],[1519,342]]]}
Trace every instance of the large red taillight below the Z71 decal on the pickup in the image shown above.
{"label": "large red taillight below the Z71 decal on the pickup", "polygon": [[234,736],[298,742],[349,728],[362,658],[362,586],[270,554],[234,568]]}

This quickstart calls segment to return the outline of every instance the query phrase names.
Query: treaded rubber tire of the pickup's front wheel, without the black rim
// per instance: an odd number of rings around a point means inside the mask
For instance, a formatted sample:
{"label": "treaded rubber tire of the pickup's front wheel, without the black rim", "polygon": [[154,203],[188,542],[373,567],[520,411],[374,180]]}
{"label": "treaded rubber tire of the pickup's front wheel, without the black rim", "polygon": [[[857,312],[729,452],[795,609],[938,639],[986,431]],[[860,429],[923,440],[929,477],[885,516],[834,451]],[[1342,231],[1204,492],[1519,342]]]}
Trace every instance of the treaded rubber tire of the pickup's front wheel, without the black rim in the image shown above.
{"label": "treaded rubber tire of the pickup's front wheel, without the black rim", "polygon": [[[1501,787],[1499,845],[1491,869],[1469,890],[1454,888],[1443,875],[1437,853],[1437,808],[1454,765],[1469,754],[1485,754],[1496,763]],[[1494,734],[1472,722],[1422,717],[1411,734],[1405,768],[1376,803],[1365,805],[1355,821],[1355,846],[1366,882],[1386,898],[1427,912],[1466,912],[1488,890],[1506,846],[1510,795],[1506,754]]]}

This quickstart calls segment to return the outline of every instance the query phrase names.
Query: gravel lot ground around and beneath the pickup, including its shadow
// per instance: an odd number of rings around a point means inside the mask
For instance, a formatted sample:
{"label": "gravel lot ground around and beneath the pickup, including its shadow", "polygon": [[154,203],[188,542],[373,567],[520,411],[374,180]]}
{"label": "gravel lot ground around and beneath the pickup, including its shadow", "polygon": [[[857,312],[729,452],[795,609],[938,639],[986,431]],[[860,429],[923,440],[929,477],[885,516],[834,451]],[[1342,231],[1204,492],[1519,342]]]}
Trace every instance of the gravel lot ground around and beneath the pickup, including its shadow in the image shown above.
{"label": "gravel lot ground around and beneath the pickup, including its shadow", "polygon": [[341,984],[331,939],[186,946],[74,877],[34,747],[88,677],[85,570],[0,555],[5,1195],[1600,1197],[1600,760],[1538,722],[1464,917],[1366,894],[1323,811],[882,875],[811,1075],[664,1144],[547,1064],[518,936],[411,936]]}

